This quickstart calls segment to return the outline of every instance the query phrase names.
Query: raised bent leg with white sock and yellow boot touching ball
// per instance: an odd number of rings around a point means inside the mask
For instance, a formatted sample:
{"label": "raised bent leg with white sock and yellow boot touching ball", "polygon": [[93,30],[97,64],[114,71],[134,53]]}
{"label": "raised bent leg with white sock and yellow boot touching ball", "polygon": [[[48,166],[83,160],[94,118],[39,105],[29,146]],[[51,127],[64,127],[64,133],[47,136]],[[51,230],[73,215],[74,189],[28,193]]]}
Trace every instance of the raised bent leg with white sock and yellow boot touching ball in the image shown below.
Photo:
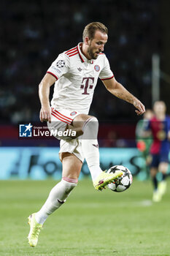
{"label": "raised bent leg with white sock and yellow boot touching ball", "polygon": [[105,173],[101,170],[98,149],[98,119],[80,114],[72,122],[73,127],[81,127],[82,154],[84,155],[95,189],[101,190],[123,173]]}

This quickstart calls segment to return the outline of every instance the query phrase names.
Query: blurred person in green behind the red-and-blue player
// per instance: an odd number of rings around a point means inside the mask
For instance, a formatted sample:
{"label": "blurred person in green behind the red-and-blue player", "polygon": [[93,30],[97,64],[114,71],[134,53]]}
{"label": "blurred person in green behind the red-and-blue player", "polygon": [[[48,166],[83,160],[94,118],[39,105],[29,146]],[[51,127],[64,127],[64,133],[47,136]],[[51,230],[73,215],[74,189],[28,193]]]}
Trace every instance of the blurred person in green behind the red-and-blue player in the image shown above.
{"label": "blurred person in green behind the red-and-blue player", "polygon": [[151,161],[150,146],[152,144],[152,134],[148,135],[146,138],[145,131],[152,117],[153,111],[147,109],[143,115],[143,118],[136,124],[136,146],[139,149],[140,156],[144,159],[141,171],[146,172],[147,176],[150,173],[149,165]]}

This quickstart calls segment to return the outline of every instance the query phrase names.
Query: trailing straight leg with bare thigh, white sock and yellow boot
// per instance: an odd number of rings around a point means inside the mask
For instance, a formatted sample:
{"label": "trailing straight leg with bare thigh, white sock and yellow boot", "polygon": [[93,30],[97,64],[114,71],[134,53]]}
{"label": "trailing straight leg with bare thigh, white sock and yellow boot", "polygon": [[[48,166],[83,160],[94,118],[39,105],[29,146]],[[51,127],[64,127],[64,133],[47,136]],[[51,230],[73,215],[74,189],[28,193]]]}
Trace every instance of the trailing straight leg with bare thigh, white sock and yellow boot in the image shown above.
{"label": "trailing straight leg with bare thigh, white sock and yellow boot", "polygon": [[80,159],[70,153],[62,153],[63,173],[61,181],[53,187],[42,208],[28,217],[30,232],[28,234],[28,243],[35,247],[38,243],[39,232],[42,229],[47,217],[55,210],[60,208],[66,202],[66,198],[77,186],[78,177],[82,168]]}

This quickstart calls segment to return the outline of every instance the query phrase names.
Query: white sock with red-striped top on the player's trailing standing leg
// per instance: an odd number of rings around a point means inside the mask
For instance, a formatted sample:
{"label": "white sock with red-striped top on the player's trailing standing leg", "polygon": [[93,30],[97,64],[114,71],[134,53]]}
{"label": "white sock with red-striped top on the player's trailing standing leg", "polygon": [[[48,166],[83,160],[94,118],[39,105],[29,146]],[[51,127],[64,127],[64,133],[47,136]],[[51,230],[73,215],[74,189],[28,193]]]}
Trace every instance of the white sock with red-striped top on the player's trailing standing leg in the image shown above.
{"label": "white sock with red-striped top on the player's trailing standing leg", "polygon": [[35,219],[39,224],[43,224],[47,217],[58,209],[66,198],[77,186],[77,179],[63,177],[62,180],[51,189],[49,196],[42,208],[36,212]]}

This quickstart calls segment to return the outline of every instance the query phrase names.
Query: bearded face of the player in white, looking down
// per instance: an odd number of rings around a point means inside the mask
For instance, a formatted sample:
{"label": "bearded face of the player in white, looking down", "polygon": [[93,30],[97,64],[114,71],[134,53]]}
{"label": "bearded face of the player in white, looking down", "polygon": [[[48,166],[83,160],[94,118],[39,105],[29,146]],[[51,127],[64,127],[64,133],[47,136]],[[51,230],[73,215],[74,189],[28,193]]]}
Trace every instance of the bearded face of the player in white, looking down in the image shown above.
{"label": "bearded face of the player in white, looking down", "polygon": [[107,34],[96,31],[94,38],[88,41],[88,56],[90,59],[97,59],[99,53],[104,51],[104,45],[107,43]]}

